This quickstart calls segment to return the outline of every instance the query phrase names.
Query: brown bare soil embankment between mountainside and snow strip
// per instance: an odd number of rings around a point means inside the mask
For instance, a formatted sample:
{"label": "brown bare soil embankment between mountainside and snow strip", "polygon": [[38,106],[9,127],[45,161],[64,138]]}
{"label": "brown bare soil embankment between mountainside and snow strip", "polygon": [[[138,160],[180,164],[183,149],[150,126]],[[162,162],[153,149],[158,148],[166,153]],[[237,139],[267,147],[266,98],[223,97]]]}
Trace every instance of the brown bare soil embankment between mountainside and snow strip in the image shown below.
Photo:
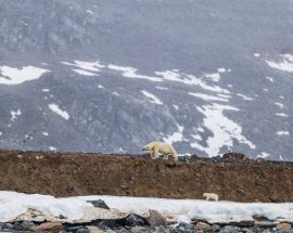
{"label": "brown bare soil embankment between mountainside and snow strip", "polygon": [[0,190],[71,195],[293,202],[293,163],[0,151]]}

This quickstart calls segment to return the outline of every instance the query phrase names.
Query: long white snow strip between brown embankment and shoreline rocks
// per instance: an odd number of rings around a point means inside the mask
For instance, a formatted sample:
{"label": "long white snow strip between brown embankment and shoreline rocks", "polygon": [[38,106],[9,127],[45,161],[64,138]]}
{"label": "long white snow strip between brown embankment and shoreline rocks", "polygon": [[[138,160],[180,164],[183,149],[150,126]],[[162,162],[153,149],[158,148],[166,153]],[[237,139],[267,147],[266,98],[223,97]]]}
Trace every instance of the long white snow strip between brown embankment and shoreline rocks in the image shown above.
{"label": "long white snow strip between brown embankment and shoreline rocks", "polygon": [[[87,200],[103,199],[111,210],[94,208]],[[29,219],[34,211],[35,220],[87,222],[93,219],[118,219],[128,213],[142,217],[149,215],[149,209],[155,209],[168,219],[190,221],[192,218],[206,219],[209,223],[229,223],[254,221],[254,216],[260,216],[271,222],[293,221],[293,203],[232,203],[207,202],[200,199],[164,199],[150,197],[123,196],[77,196],[55,198],[50,195],[23,194],[0,191],[0,221]],[[26,213],[26,215],[24,215]],[[31,218],[29,220],[33,220]]]}

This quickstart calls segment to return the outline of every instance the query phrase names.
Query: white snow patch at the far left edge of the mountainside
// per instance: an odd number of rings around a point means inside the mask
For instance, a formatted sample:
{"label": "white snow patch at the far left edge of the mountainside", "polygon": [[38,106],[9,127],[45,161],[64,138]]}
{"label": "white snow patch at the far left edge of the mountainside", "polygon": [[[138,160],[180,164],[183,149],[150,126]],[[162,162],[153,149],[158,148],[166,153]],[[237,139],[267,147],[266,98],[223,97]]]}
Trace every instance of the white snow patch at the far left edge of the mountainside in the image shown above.
{"label": "white snow patch at the far left edge of the mountainside", "polygon": [[49,70],[35,66],[23,66],[20,69],[0,66],[0,85],[21,85],[25,81],[38,79],[47,72]]}

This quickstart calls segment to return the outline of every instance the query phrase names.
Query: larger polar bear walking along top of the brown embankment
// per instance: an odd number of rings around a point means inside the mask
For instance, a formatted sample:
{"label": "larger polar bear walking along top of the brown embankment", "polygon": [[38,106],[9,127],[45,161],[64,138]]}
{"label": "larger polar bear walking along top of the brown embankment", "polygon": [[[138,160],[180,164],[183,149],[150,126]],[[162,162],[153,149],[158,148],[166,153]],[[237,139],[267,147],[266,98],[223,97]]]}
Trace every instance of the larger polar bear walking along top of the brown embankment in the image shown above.
{"label": "larger polar bear walking along top of the brown embankment", "polygon": [[158,158],[158,153],[164,155],[163,159],[168,160],[169,155],[173,156],[174,160],[178,160],[178,155],[174,147],[166,142],[151,142],[143,146],[142,151],[152,151],[151,157],[153,159]]}

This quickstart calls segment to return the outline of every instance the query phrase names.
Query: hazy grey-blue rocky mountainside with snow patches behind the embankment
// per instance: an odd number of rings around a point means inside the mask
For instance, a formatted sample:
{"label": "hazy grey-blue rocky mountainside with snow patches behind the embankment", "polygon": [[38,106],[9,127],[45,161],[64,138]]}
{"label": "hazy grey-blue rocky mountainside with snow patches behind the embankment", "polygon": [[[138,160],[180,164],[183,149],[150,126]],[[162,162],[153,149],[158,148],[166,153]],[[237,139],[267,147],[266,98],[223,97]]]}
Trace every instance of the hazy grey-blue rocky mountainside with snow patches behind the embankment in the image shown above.
{"label": "hazy grey-blue rocky mountainside with snow patches behind the embankment", "polygon": [[0,3],[1,147],[292,160],[292,1]]}

